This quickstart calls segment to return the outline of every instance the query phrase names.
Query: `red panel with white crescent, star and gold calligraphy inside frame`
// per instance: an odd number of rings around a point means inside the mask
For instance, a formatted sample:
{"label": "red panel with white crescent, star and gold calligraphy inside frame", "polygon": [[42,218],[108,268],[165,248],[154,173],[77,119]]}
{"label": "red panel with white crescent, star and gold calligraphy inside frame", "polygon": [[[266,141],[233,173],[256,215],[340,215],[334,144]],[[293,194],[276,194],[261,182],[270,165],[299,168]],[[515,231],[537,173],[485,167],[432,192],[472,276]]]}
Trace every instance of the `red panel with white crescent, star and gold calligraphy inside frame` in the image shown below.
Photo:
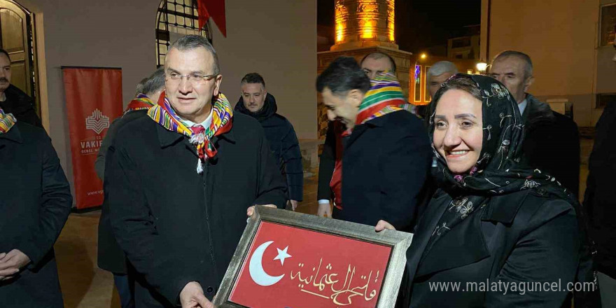
{"label": "red panel with white crescent, star and gold calligraphy inside frame", "polygon": [[252,308],[377,307],[391,247],[262,222],[230,302]]}

